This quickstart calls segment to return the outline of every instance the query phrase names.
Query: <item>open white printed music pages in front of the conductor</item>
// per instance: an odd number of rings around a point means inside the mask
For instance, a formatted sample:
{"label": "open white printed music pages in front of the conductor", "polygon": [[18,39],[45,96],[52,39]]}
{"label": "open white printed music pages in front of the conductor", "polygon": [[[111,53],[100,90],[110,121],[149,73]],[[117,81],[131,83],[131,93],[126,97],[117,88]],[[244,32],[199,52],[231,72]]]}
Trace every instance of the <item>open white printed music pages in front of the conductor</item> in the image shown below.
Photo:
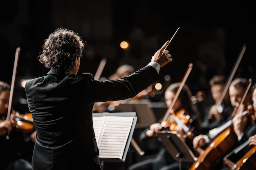
{"label": "open white printed music pages in front of the conductor", "polygon": [[122,159],[132,122],[133,117],[93,117],[100,158]]}

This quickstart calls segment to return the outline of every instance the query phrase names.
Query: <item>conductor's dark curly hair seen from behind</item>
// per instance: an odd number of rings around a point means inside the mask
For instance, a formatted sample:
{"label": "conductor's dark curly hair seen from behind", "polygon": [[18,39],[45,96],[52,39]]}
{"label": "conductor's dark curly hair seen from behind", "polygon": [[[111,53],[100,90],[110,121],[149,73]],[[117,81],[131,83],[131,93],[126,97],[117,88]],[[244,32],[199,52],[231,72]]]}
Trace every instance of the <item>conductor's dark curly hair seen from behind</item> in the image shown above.
{"label": "conductor's dark curly hair seen from behind", "polygon": [[43,51],[38,58],[46,68],[68,74],[82,56],[84,46],[77,33],[67,28],[58,28],[45,40]]}

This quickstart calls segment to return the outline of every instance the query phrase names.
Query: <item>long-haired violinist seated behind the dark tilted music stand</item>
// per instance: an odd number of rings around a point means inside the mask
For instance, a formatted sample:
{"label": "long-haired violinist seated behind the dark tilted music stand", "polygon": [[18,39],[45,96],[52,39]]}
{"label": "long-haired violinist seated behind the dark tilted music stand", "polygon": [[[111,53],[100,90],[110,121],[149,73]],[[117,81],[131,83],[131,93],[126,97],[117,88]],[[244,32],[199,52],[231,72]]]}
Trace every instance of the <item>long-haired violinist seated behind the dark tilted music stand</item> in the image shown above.
{"label": "long-haired violinist seated behind the dark tilted music stand", "polygon": [[[175,92],[177,91],[178,87],[180,85],[180,82],[177,83],[172,83],[169,85],[169,87],[166,89],[164,93],[164,98],[166,105],[169,106],[171,105],[171,102],[174,99]],[[200,132],[200,125],[198,123],[198,109],[197,107],[192,103],[191,101],[191,91],[189,87],[185,84],[184,87],[182,88],[180,95],[178,96],[175,104],[173,105],[173,112],[178,112],[180,109],[185,109],[186,113],[188,114],[193,122],[191,123],[191,128],[193,128],[193,133],[197,135]],[[176,126],[177,129],[179,128],[179,125]],[[145,138],[144,140],[150,139],[152,137],[157,137],[157,131],[163,129],[161,125],[161,120],[158,122],[151,124],[149,128],[145,129],[144,132],[142,132],[141,135],[144,135]],[[168,129],[167,129],[168,130]],[[181,135],[183,137],[183,135]],[[192,141],[191,139],[184,139],[186,140],[186,143],[188,144],[189,147],[191,147],[191,150],[193,148],[192,146]],[[187,168],[187,164],[183,163],[185,168]],[[184,168],[183,167],[183,168]],[[148,158],[143,161],[139,161],[137,163],[132,164],[131,166],[128,167],[128,170],[174,170],[178,169],[179,165],[178,162],[176,162],[171,155],[168,153],[165,147],[160,148],[159,152],[157,155],[153,158]]]}

